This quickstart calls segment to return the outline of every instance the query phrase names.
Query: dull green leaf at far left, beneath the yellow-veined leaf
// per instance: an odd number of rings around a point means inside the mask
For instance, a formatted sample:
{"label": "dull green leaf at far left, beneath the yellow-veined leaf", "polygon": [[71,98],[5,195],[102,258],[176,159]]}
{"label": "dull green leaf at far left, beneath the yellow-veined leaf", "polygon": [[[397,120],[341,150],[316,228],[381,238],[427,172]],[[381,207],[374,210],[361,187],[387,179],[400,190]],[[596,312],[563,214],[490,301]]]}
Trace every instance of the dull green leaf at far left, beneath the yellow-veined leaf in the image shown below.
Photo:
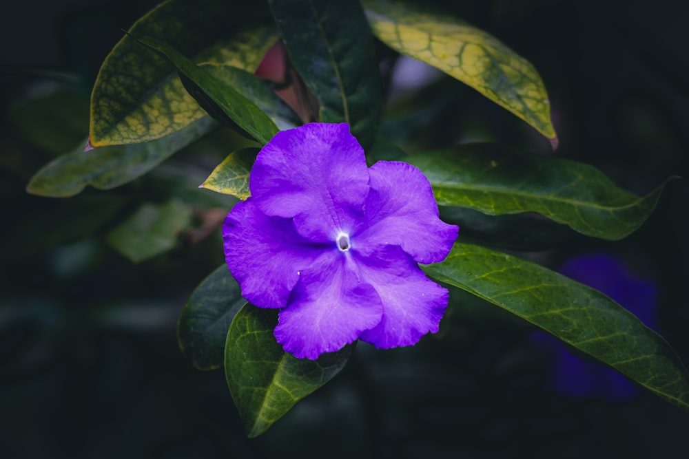
{"label": "dull green leaf at far left, beneath the yellow-veined leaf", "polygon": [[90,151],[82,147],[55,158],[30,180],[26,191],[52,198],[68,198],[87,185],[108,190],[140,177],[173,153],[187,147],[217,127],[209,117],[201,118],[174,134],[134,145],[113,145]]}

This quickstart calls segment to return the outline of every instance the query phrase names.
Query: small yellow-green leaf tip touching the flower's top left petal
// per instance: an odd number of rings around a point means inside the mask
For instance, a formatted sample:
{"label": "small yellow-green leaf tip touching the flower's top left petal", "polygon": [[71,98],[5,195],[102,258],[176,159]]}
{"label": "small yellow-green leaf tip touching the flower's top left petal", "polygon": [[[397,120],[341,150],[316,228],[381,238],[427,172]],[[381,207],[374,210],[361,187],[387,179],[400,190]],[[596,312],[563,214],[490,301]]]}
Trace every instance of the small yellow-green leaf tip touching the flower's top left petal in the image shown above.
{"label": "small yellow-green leaf tip touching the flower's top left petal", "polygon": [[230,153],[223,162],[218,164],[211,175],[199,188],[216,191],[226,195],[233,195],[240,200],[249,198],[249,173],[254,166],[255,148],[246,148]]}

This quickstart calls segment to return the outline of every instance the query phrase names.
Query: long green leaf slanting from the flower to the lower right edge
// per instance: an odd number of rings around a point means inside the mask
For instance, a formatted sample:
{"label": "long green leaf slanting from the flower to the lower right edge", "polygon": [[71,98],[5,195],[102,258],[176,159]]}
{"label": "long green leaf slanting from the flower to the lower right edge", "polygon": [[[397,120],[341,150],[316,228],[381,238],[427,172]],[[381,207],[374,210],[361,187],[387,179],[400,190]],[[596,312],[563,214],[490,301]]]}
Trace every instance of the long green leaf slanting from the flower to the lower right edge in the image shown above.
{"label": "long green leaf slanting from the flower to the lower right edge", "polygon": [[427,275],[473,293],[689,410],[689,373],[670,345],[615,301],[529,261],[455,244]]}

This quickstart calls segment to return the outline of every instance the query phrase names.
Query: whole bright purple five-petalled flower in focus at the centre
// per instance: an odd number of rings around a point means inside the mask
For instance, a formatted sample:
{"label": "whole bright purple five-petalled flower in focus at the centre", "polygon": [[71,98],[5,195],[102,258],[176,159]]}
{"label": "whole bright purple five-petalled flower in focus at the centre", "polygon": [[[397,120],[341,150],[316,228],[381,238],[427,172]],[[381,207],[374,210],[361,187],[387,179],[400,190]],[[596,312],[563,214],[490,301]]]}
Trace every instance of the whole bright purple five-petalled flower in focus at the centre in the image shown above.
{"label": "whole bright purple five-petalled flower in focus at the centre", "polygon": [[249,189],[225,219],[225,257],[248,301],[280,309],[285,351],[316,359],[356,339],[395,348],[438,331],[448,293],[418,263],[442,261],[458,228],[438,218],[421,171],[369,168],[349,125],[312,123],[263,147]]}

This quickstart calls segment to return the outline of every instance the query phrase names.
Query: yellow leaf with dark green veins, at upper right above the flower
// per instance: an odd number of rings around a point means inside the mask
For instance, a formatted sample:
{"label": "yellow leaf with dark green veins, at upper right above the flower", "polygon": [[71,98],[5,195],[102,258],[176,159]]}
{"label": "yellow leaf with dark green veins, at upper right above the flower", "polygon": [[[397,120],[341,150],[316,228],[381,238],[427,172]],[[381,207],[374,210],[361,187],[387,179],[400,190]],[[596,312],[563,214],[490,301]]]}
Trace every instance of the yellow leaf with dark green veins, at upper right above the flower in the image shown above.
{"label": "yellow leaf with dark green veins, at upper right above the flower", "polygon": [[546,88],[526,59],[483,30],[411,2],[362,4],[380,41],[473,87],[557,146]]}

